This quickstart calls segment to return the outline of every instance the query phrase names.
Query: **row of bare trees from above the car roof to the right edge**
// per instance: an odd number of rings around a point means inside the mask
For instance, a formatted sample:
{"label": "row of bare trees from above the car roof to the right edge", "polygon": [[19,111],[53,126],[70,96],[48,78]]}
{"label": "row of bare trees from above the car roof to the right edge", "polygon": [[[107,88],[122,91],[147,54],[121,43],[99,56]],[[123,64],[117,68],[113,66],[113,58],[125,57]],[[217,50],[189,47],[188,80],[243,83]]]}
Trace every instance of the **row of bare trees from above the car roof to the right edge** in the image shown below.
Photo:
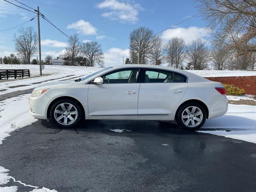
{"label": "row of bare trees from above the car roof to the right edge", "polygon": [[130,33],[130,58],[126,58],[125,63],[168,64],[186,70],[254,70],[256,52],[241,53],[220,42],[200,38],[189,44],[178,37],[164,42],[153,30],[141,27]]}

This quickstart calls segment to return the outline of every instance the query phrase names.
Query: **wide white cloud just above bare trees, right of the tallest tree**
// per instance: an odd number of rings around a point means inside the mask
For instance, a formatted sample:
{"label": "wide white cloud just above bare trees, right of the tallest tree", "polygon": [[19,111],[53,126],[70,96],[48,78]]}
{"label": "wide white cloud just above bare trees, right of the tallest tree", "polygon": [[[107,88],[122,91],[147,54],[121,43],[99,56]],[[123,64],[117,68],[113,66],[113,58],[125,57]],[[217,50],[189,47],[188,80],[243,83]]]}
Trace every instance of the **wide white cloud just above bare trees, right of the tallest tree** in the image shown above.
{"label": "wide white cloud just above bare trees, right of the tallest tree", "polygon": [[163,40],[168,41],[173,37],[180,37],[185,40],[185,42],[191,43],[192,40],[196,38],[202,38],[209,36],[209,29],[207,28],[198,28],[198,27],[189,27],[189,28],[173,28],[168,29],[162,33]]}

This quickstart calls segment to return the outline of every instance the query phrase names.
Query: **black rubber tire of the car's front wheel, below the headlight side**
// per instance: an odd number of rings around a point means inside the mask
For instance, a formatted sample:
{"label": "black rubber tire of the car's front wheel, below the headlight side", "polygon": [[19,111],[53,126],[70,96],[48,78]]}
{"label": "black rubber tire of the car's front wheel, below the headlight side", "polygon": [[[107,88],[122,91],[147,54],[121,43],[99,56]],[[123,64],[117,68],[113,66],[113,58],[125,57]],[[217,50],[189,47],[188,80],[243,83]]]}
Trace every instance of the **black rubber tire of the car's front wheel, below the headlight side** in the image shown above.
{"label": "black rubber tire of the car's front wheel, below the headlight side", "polygon": [[[59,111],[60,111],[60,109],[62,109],[60,104],[64,104],[64,107],[66,108],[65,113],[64,113],[64,111],[62,111],[62,114],[54,114],[54,111],[55,111],[55,109],[57,107],[59,107],[58,108]],[[68,106],[69,106],[68,104],[72,104],[73,105],[73,107],[70,109],[70,111],[68,111]],[[76,114],[71,114],[72,112],[76,113],[76,111],[77,111],[77,116],[76,116]],[[62,127],[62,128],[70,128],[70,127],[78,124],[78,122],[80,121],[81,117],[83,116],[82,114],[83,113],[82,113],[82,109],[80,107],[80,104],[78,104],[76,101],[71,100],[71,99],[61,99],[61,100],[56,101],[52,105],[51,110],[50,110],[50,117],[51,117],[52,122],[54,122],[54,124],[56,124],[57,126]],[[63,118],[60,119],[59,121],[57,121],[56,118],[58,118],[60,116],[63,116]],[[67,119],[66,124],[64,124],[65,123],[64,122],[65,117]],[[73,122],[72,122],[71,118],[74,119]]]}

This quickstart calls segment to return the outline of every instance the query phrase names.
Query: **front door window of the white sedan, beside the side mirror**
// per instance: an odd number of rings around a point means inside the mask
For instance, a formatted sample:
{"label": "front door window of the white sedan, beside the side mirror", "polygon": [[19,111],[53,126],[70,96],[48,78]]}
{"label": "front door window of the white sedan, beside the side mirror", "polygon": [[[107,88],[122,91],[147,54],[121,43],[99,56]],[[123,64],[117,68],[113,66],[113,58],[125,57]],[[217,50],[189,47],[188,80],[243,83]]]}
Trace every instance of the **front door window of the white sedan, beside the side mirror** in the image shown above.
{"label": "front door window of the white sedan, beside the side mirror", "polygon": [[101,76],[104,83],[136,83],[139,69],[122,69]]}

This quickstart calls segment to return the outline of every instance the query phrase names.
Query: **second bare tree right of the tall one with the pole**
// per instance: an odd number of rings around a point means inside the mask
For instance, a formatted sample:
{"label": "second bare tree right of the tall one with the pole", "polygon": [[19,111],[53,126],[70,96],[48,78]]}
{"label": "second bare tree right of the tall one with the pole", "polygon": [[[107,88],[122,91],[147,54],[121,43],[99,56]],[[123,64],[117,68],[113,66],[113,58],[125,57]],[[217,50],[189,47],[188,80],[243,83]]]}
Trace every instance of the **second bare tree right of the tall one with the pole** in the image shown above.
{"label": "second bare tree right of the tall one with the pole", "polygon": [[173,37],[165,46],[166,61],[169,66],[175,65],[176,68],[182,64],[186,54],[186,44],[184,39]]}

